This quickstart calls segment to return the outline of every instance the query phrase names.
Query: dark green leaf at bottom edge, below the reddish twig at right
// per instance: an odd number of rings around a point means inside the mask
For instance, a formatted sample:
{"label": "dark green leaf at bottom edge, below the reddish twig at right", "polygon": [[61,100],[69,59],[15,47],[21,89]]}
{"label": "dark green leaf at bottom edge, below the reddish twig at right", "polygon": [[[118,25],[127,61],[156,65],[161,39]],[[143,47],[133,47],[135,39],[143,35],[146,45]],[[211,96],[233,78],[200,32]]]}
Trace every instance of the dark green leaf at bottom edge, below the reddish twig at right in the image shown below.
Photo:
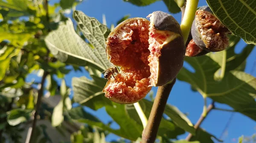
{"label": "dark green leaf at bottom edge, below the reddish twig at right", "polygon": [[191,138],[191,141],[198,140],[200,143],[214,143],[212,138],[215,138],[216,140],[218,140],[218,142],[223,142],[214,135],[211,135],[208,132],[206,132],[204,129],[198,128],[195,136]]}

